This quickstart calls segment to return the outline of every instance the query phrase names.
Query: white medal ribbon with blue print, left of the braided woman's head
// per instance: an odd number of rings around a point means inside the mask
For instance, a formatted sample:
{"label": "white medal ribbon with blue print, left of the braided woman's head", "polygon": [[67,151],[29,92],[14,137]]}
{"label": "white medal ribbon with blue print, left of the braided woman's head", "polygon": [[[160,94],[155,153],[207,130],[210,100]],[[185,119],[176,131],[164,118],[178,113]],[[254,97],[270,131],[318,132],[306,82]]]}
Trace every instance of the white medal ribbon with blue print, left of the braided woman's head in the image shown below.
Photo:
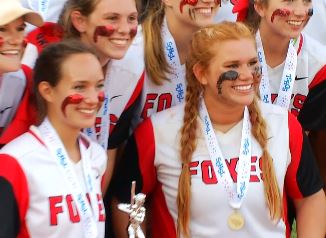
{"label": "white medal ribbon with blue print, left of the braided woman's head", "polygon": [[171,68],[171,73],[167,78],[174,84],[173,94],[176,102],[181,103],[185,98],[185,66],[180,64],[178,49],[168,29],[166,18],[164,18],[161,33],[165,58]]}

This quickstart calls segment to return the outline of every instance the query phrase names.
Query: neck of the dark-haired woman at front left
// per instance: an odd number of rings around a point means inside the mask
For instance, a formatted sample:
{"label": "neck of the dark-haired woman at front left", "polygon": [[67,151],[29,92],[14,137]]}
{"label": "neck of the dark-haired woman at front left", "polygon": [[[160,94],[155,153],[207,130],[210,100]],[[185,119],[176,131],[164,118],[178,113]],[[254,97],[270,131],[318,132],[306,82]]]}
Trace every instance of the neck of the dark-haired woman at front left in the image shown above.
{"label": "neck of the dark-haired woman at front left", "polygon": [[80,160],[80,150],[78,144],[80,129],[65,125],[65,123],[62,121],[57,120],[57,116],[54,117],[48,114],[48,119],[53,128],[56,130],[69,155],[70,160],[73,162],[78,162]]}

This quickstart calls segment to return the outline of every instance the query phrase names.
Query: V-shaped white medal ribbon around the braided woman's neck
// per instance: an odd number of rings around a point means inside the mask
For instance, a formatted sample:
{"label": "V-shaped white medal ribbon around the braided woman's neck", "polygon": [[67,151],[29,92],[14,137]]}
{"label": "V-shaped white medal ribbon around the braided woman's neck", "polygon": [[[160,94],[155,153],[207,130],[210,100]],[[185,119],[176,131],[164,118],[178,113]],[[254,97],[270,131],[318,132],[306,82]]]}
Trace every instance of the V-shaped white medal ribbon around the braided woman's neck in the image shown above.
{"label": "V-shaped white medal ribbon around the braided woman's neck", "polygon": [[239,209],[249,188],[251,169],[251,123],[248,108],[245,107],[243,116],[236,185],[234,185],[226,165],[203,99],[201,100],[199,115],[203,122],[201,125],[205,135],[206,145],[212,165],[217,172],[218,181],[223,185],[227,193],[230,206],[233,209]]}

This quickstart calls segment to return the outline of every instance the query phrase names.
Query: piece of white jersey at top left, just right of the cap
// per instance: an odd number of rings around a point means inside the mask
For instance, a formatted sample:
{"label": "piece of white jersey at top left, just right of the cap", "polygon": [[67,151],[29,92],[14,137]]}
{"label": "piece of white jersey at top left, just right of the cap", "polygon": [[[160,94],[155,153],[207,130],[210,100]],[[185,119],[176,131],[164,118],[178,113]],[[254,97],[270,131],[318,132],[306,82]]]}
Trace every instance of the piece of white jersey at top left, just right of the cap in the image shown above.
{"label": "piece of white jersey at top left, just right of the cap", "polygon": [[[56,23],[67,0],[20,0],[23,7],[32,9],[42,15],[44,22]],[[27,32],[35,29],[28,24]]]}

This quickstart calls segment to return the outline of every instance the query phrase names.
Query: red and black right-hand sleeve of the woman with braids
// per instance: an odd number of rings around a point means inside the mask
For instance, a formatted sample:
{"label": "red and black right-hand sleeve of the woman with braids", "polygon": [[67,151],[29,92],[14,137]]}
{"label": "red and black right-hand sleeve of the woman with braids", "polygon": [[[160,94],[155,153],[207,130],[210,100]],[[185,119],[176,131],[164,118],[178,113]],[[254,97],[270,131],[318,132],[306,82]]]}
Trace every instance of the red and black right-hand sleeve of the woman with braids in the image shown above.
{"label": "red and black right-hand sleeve of the woman with braids", "polygon": [[323,188],[308,137],[297,119],[289,113],[291,162],[285,176],[285,189],[292,199],[310,196]]}

